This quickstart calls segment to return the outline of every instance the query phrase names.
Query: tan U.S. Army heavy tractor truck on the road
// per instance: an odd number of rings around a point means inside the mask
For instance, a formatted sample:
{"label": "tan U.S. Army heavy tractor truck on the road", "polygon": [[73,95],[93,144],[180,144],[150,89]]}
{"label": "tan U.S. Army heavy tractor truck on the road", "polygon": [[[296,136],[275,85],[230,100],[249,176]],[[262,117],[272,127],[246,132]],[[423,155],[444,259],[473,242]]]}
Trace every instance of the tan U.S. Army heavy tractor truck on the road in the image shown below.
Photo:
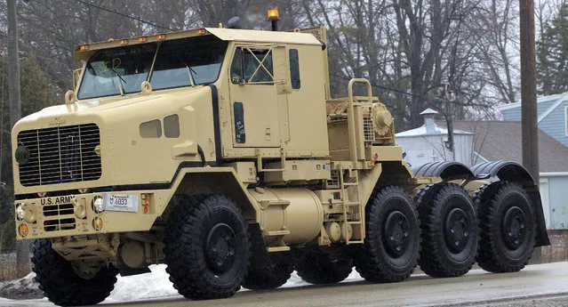
{"label": "tan U.S. Army heavy tractor truck on the road", "polygon": [[[548,245],[514,162],[411,169],[365,79],[332,98],[324,28],[197,28],[79,44],[65,104],[12,131],[18,239],[60,305],[165,263],[190,299],[520,271]],[[354,94],[355,84],[366,95]],[[135,291],[135,290],[133,290]]]}

